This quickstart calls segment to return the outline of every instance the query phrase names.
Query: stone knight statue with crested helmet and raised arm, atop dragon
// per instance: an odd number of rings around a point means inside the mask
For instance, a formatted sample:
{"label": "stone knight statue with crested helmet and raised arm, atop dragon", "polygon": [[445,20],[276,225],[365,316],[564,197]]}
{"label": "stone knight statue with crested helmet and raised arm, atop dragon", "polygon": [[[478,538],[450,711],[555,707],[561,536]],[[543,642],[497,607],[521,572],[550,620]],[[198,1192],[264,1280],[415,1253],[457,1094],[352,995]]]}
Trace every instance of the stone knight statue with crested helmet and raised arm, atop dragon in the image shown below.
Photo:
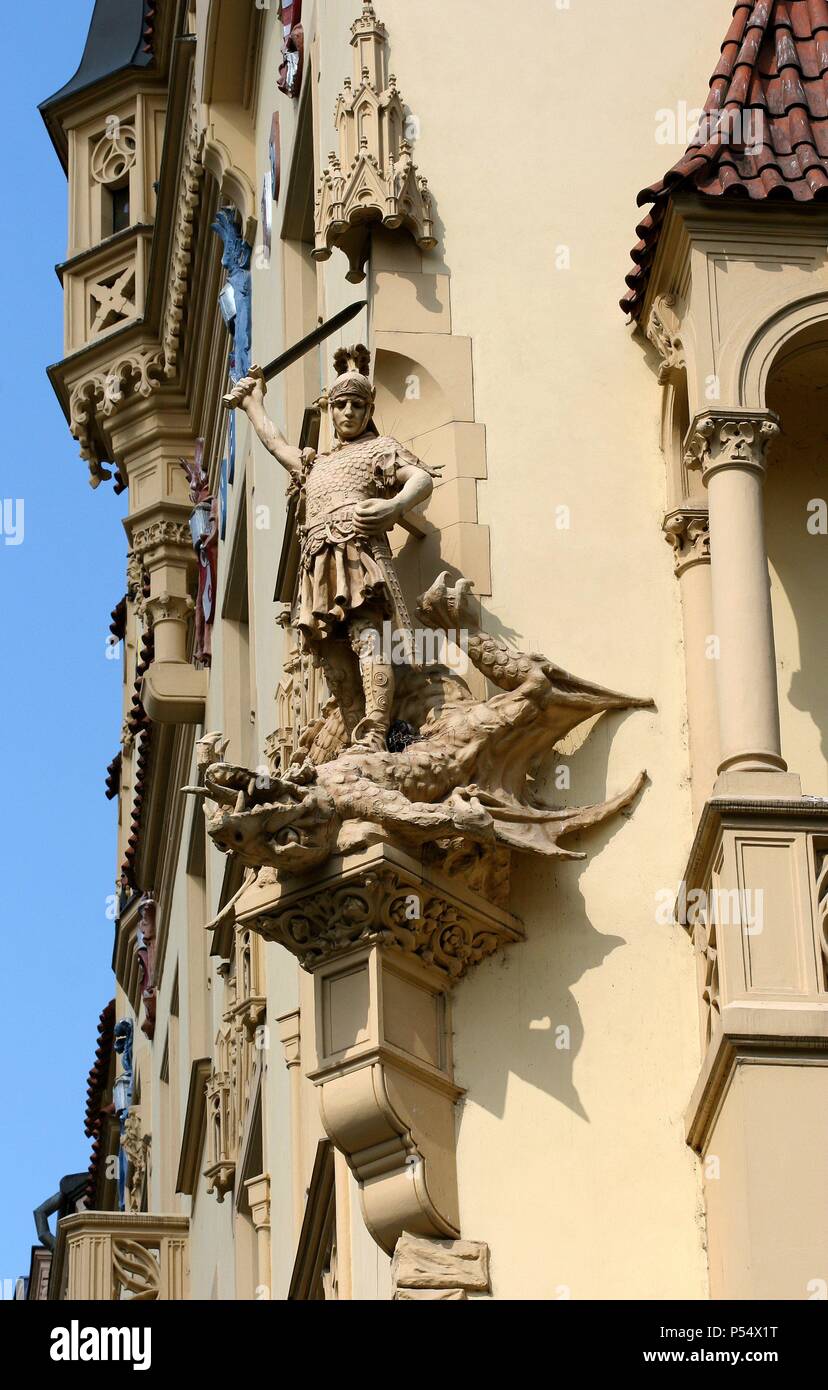
{"label": "stone knight statue with crested helmet and raised arm, atop dragon", "polygon": [[331,453],[289,445],[264,409],[258,367],[225,404],[247,414],[265,449],[299,493],[300,589],[295,627],[301,649],[321,663],[353,748],[385,752],[393,706],[393,666],[382,652],[383,621],[407,627],[386,535],[431,496],[436,470],[374,424],[375,391],[363,345],[340,349],[328,391],[336,443]]}

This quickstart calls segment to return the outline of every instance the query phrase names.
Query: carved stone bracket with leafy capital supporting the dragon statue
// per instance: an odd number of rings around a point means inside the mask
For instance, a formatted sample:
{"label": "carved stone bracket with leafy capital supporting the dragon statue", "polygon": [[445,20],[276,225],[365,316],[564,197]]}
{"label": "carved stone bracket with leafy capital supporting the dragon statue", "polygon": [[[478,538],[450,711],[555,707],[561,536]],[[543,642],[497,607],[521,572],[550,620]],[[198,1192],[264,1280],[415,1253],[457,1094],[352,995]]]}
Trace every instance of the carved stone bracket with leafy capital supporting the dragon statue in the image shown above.
{"label": "carved stone bracket with leafy capital supporting the dragon statue", "polygon": [[450,991],[524,938],[517,919],[390,845],[333,859],[313,883],[263,869],[235,910],[314,977],[307,1074],[376,1243],[392,1254],[404,1230],[458,1236]]}

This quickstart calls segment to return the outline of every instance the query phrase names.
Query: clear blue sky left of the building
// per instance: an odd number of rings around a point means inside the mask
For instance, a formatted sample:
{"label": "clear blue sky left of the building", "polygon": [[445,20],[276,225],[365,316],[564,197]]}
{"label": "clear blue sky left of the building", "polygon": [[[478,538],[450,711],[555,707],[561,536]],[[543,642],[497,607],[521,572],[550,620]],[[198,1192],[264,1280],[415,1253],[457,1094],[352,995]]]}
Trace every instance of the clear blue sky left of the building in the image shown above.
{"label": "clear blue sky left of the building", "polygon": [[3,14],[0,499],[24,500],[24,535],[0,537],[0,1290],[28,1273],[32,1208],[89,1163],[86,1074],[114,994],[115,805],[103,787],[121,663],[106,639],[125,585],[125,498],[88,485],[46,377],[63,353],[67,182],[38,114],[74,74],[92,8],[50,0]]}

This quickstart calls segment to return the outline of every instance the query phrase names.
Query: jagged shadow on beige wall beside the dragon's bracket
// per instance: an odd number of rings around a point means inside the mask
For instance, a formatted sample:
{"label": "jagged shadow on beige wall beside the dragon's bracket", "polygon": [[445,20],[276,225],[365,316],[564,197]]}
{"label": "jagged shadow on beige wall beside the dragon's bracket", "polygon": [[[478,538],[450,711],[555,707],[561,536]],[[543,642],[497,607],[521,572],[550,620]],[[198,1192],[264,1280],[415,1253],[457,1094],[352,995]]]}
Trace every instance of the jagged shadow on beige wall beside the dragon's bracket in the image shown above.
{"label": "jagged shadow on beige wall beside the dragon's bracket", "polygon": [[[606,784],[607,752],[615,730],[628,717],[624,713],[602,716],[593,728],[593,742],[578,755],[578,770],[572,776],[577,794],[545,790],[543,799],[586,805],[618,791]],[[611,821],[565,841],[567,849],[586,853],[582,863],[531,855],[513,859],[511,910],[527,923],[527,941],[483,962],[463,983],[461,991],[474,991],[474,1009],[465,1011],[463,995],[457,998],[457,1012],[464,1015],[457,1081],[464,1086],[464,1073],[474,1076],[475,1105],[493,1116],[503,1116],[508,1077],[514,1073],[589,1123],[574,1081],[583,1022],[572,987],[627,945],[627,938],[595,930],[581,892],[581,876],[613,837],[627,830],[627,820],[639,802],[640,796]],[[492,1017],[506,1024],[496,1052],[485,1023]],[[485,1066],[481,1065],[483,1058]]]}

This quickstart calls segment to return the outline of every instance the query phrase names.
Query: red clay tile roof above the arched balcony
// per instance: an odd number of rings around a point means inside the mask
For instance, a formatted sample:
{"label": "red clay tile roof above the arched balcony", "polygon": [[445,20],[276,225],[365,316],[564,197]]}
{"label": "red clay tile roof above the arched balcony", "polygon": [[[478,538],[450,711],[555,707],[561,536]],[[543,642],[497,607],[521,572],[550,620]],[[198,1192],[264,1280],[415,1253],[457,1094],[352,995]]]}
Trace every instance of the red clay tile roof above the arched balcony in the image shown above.
{"label": "red clay tile roof above the arched balcony", "polygon": [[636,227],[635,268],[621,300],[634,318],[674,193],[828,199],[828,0],[738,0],[704,113],[709,120],[681,160],[638,195],[639,207],[653,207]]}

